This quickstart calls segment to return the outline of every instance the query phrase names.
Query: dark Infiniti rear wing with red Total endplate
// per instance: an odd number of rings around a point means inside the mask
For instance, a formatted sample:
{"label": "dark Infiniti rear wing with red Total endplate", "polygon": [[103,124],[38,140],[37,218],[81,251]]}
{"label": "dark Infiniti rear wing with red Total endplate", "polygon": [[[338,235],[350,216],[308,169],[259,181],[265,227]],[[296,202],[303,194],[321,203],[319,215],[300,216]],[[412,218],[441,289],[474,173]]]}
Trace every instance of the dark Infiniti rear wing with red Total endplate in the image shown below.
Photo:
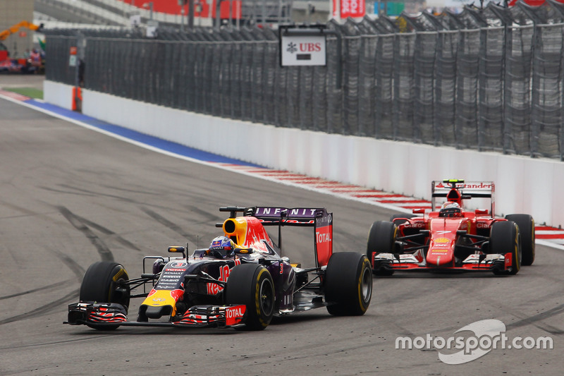
{"label": "dark Infiniti rear wing with red Total endplate", "polygon": [[255,217],[263,226],[278,226],[278,247],[281,248],[282,226],[314,227],[315,262],[317,267],[327,265],[333,254],[333,213],[324,207],[220,207],[220,212],[243,212],[245,217]]}

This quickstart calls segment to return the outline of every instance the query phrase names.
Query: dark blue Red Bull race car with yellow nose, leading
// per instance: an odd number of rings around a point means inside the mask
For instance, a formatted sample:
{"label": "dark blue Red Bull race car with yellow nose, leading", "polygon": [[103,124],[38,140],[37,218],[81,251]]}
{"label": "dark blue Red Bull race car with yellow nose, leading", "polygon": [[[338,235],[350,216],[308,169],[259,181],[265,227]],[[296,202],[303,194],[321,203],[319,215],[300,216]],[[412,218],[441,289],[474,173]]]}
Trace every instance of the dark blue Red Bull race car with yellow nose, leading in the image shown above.
{"label": "dark blue Red Bull race car with yellow nose, leading", "polygon": [[[326,307],[331,315],[363,315],[372,297],[372,268],[361,253],[333,253],[333,215],[324,208],[221,207],[223,235],[187,255],[147,256],[140,278],[117,262],[96,262],[82,280],[70,325],[111,330],[121,325],[235,327],[260,330],[273,316]],[[242,216],[237,216],[243,213]],[[266,227],[276,226],[278,244]],[[281,229],[312,227],[314,267],[281,255]],[[152,264],[150,272],[145,264]],[[143,298],[134,321],[131,298]]]}

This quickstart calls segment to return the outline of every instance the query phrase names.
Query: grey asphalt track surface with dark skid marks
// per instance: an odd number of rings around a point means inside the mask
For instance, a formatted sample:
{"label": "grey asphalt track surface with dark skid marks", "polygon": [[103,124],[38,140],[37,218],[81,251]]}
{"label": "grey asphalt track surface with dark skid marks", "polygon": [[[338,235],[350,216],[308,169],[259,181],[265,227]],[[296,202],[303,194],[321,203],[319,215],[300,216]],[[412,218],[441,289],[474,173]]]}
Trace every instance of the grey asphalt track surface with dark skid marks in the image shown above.
{"label": "grey asphalt track surface with dark skid marks", "polygon": [[[312,310],[263,332],[63,325],[92,262],[116,260],[136,277],[144,255],[207,245],[220,206],[327,207],[335,250],[362,253],[370,224],[391,212],[169,157],[4,99],[0,161],[0,375],[562,374],[564,253],[544,246],[515,277],[374,279],[362,317]],[[309,231],[283,237],[285,255],[306,266]],[[398,336],[448,339],[486,319],[509,339],[549,336],[553,349],[496,348],[461,365],[436,348],[396,349]]]}

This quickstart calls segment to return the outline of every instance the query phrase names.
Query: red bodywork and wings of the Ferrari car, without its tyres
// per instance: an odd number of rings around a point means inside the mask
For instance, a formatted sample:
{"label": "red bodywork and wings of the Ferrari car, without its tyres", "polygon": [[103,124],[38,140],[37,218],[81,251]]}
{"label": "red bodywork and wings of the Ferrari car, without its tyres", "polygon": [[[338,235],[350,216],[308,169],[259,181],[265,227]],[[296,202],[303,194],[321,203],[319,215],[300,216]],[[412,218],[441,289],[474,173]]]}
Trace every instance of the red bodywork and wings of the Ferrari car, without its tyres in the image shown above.
{"label": "red bodywork and wings of the Ferrari car, without its tyres", "polygon": [[[494,183],[434,181],[432,185],[433,210],[414,210],[419,217],[394,217],[397,230],[393,250],[376,250],[372,256],[373,268],[389,270],[491,270],[511,266],[511,253],[486,255],[491,225],[506,219],[494,218]],[[435,198],[460,205],[460,212],[442,217],[436,210]],[[489,210],[467,211],[463,200],[489,198]],[[423,214],[422,217],[420,215]]]}

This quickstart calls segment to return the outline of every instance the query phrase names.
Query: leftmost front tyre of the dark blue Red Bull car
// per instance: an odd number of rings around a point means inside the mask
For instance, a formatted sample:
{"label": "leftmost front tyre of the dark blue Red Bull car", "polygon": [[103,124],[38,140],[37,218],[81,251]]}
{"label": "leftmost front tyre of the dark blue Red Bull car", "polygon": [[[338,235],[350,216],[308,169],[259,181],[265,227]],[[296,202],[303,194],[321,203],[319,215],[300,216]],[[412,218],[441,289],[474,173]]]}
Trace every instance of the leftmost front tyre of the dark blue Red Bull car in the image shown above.
{"label": "leftmost front tyre of the dark blue Red Bull car", "polygon": [[[96,303],[118,303],[125,310],[129,307],[130,288],[120,282],[129,281],[128,272],[117,262],[94,262],[87,269],[80,285],[80,301]],[[99,330],[114,330],[119,325],[87,324]]]}

